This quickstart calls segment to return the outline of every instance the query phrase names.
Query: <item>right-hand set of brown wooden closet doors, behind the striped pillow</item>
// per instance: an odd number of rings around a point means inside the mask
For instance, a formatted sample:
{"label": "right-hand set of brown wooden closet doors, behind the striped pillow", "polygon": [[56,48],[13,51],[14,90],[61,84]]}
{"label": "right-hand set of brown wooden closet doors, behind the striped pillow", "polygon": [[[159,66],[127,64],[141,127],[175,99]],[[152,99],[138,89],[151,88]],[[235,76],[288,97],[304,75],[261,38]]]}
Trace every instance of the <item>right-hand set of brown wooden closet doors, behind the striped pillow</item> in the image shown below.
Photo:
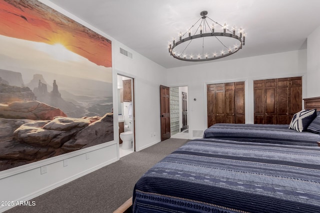
{"label": "right-hand set of brown wooden closet doors, behind the striped pillow", "polygon": [[253,81],[254,123],[289,124],[302,109],[302,77]]}

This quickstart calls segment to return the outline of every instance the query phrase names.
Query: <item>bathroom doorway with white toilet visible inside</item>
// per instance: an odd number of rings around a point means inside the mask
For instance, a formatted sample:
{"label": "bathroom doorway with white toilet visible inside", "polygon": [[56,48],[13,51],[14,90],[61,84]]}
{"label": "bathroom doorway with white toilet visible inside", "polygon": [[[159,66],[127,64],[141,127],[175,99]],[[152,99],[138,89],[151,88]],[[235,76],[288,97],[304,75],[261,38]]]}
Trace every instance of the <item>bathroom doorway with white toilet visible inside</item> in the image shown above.
{"label": "bathroom doorway with white toilet visible inside", "polygon": [[134,78],[117,75],[119,157],[135,151]]}

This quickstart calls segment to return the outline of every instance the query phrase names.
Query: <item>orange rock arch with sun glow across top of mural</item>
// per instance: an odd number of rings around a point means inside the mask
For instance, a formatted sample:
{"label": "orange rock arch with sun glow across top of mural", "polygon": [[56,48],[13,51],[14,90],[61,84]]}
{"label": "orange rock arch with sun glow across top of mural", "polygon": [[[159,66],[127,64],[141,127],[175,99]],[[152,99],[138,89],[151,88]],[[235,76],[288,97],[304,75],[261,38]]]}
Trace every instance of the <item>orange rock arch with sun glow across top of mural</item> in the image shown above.
{"label": "orange rock arch with sun glow across top of mural", "polygon": [[0,0],[0,34],[60,44],[96,65],[111,67],[111,41],[37,0]]}

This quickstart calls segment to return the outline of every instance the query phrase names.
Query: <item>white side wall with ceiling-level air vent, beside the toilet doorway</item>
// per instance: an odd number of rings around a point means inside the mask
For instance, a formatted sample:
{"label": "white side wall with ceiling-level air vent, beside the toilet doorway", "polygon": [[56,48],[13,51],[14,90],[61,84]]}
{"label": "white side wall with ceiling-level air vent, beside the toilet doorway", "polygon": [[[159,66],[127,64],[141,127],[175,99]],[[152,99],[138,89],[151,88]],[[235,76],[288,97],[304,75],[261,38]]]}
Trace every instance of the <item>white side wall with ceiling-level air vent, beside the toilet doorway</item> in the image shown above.
{"label": "white side wall with ceiling-level air vent, beside the toilet doorway", "polygon": [[[132,59],[120,54],[120,47]],[[140,151],[161,141],[159,87],[166,85],[166,69],[119,42],[112,41],[113,48],[116,73],[134,78],[135,150]]]}

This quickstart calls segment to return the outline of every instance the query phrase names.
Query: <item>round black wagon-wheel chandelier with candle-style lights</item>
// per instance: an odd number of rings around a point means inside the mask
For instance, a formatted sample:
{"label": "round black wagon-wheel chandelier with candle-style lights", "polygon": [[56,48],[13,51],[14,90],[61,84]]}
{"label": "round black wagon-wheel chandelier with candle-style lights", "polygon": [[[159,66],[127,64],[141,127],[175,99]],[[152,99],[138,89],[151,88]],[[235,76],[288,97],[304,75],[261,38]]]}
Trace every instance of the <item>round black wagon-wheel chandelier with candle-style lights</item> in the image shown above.
{"label": "round black wagon-wheel chandelier with candle-style lights", "polygon": [[[200,12],[201,17],[187,29],[185,33],[179,33],[179,39],[172,39],[169,42],[169,53],[174,58],[183,61],[208,61],[229,56],[239,49],[242,49],[245,41],[245,33],[239,29],[239,35],[235,34],[235,26],[232,31],[218,22],[212,20],[207,15],[207,11]],[[209,25],[206,18],[212,21]],[[198,23],[200,22],[200,23]],[[192,27],[196,27],[191,35]],[[215,32],[216,25],[222,27],[223,32]],[[188,42],[187,42],[188,41]]]}

